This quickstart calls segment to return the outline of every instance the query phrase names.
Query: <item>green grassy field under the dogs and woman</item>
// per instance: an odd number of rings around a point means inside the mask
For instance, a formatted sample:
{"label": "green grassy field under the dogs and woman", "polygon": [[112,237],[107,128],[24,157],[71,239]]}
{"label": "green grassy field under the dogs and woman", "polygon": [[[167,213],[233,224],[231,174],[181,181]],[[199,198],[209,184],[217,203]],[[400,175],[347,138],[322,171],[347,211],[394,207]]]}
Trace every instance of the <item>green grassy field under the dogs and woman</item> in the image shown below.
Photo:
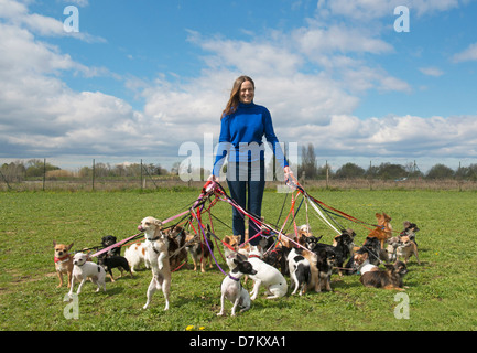
{"label": "green grassy field under the dogs and woman", "polygon": [[[187,207],[198,191],[139,192],[2,192],[0,193],[0,330],[476,330],[477,247],[476,192],[455,191],[308,191],[316,199],[364,221],[373,223],[376,212],[392,216],[394,229],[403,221],[419,225],[420,259],[409,264],[409,319],[397,319],[397,292],[365,288],[358,276],[332,277],[334,292],[308,292],[267,300],[260,296],[250,311],[218,318],[223,274],[181,269],[173,274],[171,309],[163,311],[158,292],[150,309],[142,310],[150,270],[141,270],[96,293],[87,282],[79,296],[79,318],[66,319],[67,288],[57,289],[53,239],[74,242],[74,249],[99,245],[104,235],[119,239],[137,233],[148,215],[166,218]],[[284,194],[265,192],[263,215],[278,220]],[[290,197],[286,200],[286,207]],[[224,202],[214,215],[230,224],[230,206]],[[310,213],[315,235],[330,243],[333,233]],[[282,218],[283,221],[283,218]],[[305,223],[301,211],[297,223]],[[361,244],[367,229],[343,221]],[[220,236],[228,226],[214,223]],[[226,268],[219,254],[219,264]],[[192,261],[191,261],[192,263]],[[115,270],[115,274],[118,274]],[[250,288],[250,285],[248,285]],[[193,328],[192,328],[193,327]]]}

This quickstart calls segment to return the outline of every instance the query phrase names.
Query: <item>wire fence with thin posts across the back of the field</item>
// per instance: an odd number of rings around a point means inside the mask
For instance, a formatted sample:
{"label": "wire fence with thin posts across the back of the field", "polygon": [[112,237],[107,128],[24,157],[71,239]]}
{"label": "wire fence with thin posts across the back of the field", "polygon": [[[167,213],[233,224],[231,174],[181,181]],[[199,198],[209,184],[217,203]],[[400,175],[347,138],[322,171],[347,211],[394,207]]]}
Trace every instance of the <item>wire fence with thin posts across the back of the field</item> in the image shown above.
{"label": "wire fence with thin posts across the back of the field", "polygon": [[[142,192],[156,190],[184,190],[200,189],[207,176],[207,171],[195,173],[194,180],[181,179],[178,171],[166,171],[159,165],[145,164],[142,162],[124,165],[110,167],[109,163],[96,163],[93,160],[91,167],[84,167],[77,172],[61,169],[47,169],[46,159],[41,161],[36,168],[35,176],[29,176],[23,169],[13,163],[3,164],[0,169],[0,191],[130,191]],[[7,165],[7,168],[6,168]],[[278,173],[267,181],[267,188],[286,192],[282,188],[283,173]],[[318,180],[305,178],[301,173],[300,182],[305,188],[323,190],[477,190],[475,178],[442,178],[426,179],[421,175],[383,180],[375,176],[366,178],[337,178],[333,173],[324,173]],[[226,186],[226,183],[224,183]]]}

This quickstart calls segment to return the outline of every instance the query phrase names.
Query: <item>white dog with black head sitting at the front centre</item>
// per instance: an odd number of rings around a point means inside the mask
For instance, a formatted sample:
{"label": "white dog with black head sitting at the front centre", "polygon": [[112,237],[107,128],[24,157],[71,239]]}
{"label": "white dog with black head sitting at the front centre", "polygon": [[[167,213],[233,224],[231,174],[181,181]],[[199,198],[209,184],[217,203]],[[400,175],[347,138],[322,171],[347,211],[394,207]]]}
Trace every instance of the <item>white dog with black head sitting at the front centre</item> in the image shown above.
{"label": "white dog with black head sitting at the front centre", "polygon": [[231,308],[231,315],[236,315],[237,307],[240,306],[240,312],[250,309],[250,296],[248,291],[241,286],[240,278],[243,275],[256,275],[257,271],[249,261],[242,261],[239,259],[234,259],[235,268],[230,270],[230,274],[224,278],[220,286],[220,312],[217,317],[221,317],[225,313],[225,299],[234,303]]}

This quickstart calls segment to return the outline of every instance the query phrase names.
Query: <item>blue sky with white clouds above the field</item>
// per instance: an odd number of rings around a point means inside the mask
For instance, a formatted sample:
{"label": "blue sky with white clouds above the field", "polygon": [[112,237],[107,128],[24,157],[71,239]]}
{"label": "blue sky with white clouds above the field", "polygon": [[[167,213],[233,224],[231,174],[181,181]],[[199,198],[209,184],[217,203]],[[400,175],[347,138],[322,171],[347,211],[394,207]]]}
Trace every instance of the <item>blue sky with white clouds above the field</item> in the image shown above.
{"label": "blue sky with white clouds above the field", "polygon": [[0,162],[170,168],[195,143],[208,165],[247,74],[318,164],[476,163],[476,19],[475,0],[0,0]]}

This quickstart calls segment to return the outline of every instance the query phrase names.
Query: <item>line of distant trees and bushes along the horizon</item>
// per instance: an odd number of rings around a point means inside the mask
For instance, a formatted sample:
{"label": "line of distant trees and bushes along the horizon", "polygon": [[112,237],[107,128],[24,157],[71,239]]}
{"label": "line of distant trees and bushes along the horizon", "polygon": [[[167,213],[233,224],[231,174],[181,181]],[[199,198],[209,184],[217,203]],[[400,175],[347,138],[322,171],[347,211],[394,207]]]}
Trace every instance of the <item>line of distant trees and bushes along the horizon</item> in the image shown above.
{"label": "line of distant trees and bushes along the horizon", "polygon": [[[141,171],[142,168],[142,171]],[[459,167],[453,170],[444,164],[433,165],[426,173],[419,170],[415,163],[405,165],[394,163],[381,163],[380,165],[369,165],[367,169],[356,163],[346,163],[336,171],[327,163],[318,165],[313,145],[302,147],[302,160],[297,168],[297,176],[306,180],[329,179],[377,179],[377,180],[406,180],[406,179],[458,179],[477,181],[477,163],[468,167]],[[24,180],[34,180],[39,178],[69,179],[69,178],[137,178],[139,175],[178,175],[178,163],[175,163],[171,170],[162,168],[160,164],[115,164],[96,163],[91,167],[79,168],[76,172],[62,170],[44,160],[31,159],[25,161],[14,161],[3,163],[0,167],[0,182],[22,182]],[[204,173],[205,175],[205,173]]]}

